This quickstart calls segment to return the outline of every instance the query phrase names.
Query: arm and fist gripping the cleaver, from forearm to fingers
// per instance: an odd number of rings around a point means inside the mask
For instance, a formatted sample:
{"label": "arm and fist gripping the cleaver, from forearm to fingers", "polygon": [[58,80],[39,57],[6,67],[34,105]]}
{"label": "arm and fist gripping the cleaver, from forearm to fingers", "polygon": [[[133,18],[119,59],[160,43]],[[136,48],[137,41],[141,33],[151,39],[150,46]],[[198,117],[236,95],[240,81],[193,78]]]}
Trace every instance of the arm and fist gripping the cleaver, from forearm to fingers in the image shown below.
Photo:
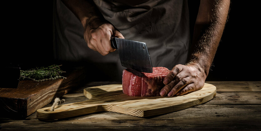
{"label": "arm and fist gripping the cleaver, from forearm to fingers", "polygon": [[116,49],[111,47],[111,36],[123,38],[123,35],[107,20],[104,19],[93,1],[90,0],[63,0],[63,3],[81,21],[84,29],[84,39],[88,47],[107,55]]}

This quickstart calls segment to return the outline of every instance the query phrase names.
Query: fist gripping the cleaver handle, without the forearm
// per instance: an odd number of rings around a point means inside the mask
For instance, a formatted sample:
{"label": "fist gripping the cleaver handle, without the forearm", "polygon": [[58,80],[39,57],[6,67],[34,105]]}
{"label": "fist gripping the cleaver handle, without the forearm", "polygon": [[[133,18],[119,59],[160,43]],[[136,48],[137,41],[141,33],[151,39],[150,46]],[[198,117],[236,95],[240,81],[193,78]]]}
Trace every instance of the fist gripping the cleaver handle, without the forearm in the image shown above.
{"label": "fist gripping the cleaver handle, without the forearm", "polygon": [[102,24],[97,29],[86,29],[83,35],[88,47],[98,51],[101,55],[107,55],[116,50],[111,46],[110,39],[112,36],[124,39],[123,35],[112,24]]}

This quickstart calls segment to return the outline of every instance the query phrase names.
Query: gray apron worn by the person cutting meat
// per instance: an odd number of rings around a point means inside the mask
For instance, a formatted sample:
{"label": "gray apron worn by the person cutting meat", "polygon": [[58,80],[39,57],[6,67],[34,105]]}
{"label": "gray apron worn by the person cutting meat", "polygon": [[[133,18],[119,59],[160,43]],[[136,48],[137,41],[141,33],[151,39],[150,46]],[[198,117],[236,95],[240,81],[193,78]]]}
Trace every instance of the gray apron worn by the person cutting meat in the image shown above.
{"label": "gray apron worn by the person cutting meat", "polygon": [[[171,70],[187,61],[190,31],[186,0],[93,1],[125,39],[146,42],[153,67]],[[100,77],[106,77],[104,80],[121,81],[125,67],[117,50],[102,56],[89,49],[83,39],[82,24],[60,0],[54,2],[53,17],[55,59],[85,61],[102,72]]]}

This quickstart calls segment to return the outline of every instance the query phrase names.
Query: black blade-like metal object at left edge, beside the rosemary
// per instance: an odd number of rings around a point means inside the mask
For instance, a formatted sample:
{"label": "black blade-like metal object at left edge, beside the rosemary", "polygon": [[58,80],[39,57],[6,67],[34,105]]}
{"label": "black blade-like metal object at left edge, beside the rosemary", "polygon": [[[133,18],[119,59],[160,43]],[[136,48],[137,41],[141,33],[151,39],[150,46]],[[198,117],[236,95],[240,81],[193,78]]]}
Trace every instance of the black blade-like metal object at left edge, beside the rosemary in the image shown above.
{"label": "black blade-like metal object at left edge, beside the rosemary", "polygon": [[6,64],[1,65],[0,70],[0,88],[17,88],[20,81],[20,67],[19,65]]}

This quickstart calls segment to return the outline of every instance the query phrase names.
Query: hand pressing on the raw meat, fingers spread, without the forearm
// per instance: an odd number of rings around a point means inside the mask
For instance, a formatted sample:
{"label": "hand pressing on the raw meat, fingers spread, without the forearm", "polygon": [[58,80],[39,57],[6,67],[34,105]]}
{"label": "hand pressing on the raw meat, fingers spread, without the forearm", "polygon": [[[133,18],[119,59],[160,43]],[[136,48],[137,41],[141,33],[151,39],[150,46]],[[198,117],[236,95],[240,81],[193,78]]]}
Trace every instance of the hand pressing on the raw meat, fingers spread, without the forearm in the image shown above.
{"label": "hand pressing on the raw meat, fingers spread, without the forearm", "polygon": [[204,70],[196,64],[176,65],[163,80],[165,86],[160,95],[172,97],[201,89],[206,75]]}

